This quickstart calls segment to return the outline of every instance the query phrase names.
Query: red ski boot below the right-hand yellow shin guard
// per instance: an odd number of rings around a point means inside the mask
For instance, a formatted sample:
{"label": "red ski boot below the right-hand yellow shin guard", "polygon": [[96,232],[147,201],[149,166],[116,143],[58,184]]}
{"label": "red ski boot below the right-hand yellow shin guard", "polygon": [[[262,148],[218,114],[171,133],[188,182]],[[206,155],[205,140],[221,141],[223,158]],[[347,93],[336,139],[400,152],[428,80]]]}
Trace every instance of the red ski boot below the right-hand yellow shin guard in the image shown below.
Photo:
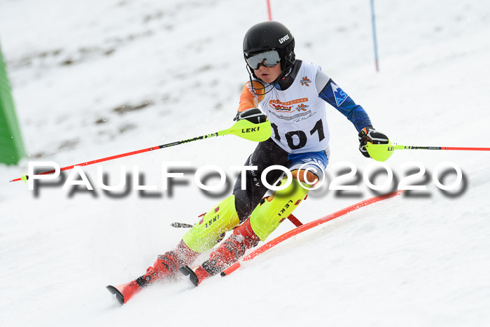
{"label": "red ski boot below the right-hand yellow shin guard", "polygon": [[202,265],[191,269],[188,266],[179,268],[179,272],[188,278],[194,286],[201,284],[204,279],[223,271],[226,267],[241,258],[246,249],[256,246],[260,239],[253,232],[250,218],[245,223],[235,228],[233,234],[228,237],[215,251],[209,255],[209,260]]}

